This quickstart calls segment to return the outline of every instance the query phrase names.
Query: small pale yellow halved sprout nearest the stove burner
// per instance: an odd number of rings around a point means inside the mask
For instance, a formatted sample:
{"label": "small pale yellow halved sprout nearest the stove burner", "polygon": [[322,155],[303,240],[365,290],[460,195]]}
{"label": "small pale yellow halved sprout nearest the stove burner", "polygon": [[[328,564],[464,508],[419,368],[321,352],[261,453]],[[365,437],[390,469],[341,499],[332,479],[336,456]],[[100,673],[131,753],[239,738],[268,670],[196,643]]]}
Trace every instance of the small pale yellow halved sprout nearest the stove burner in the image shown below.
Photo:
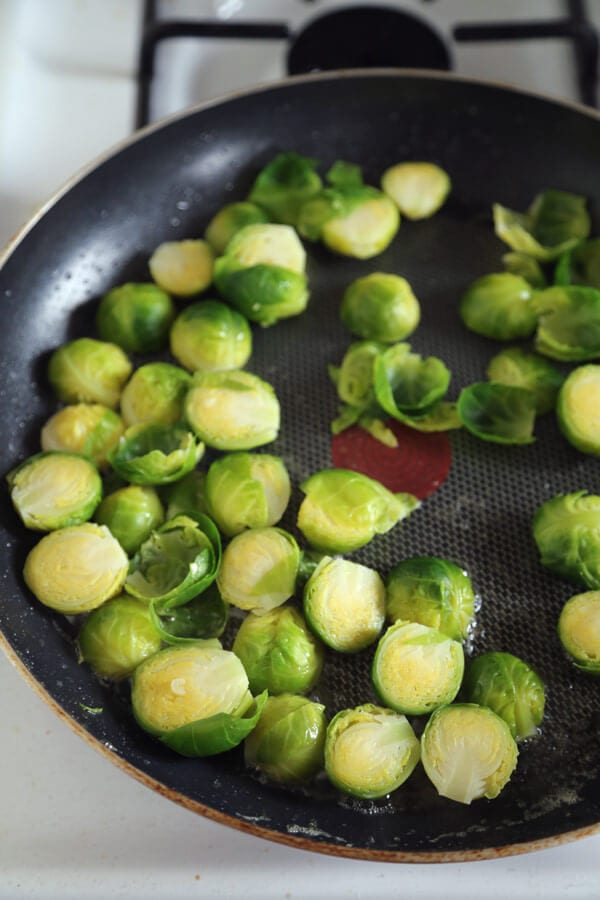
{"label": "small pale yellow halved sprout nearest the stove burner", "polygon": [[446,202],[452,183],[431,162],[402,162],[386,169],[381,187],[407,219],[428,219]]}

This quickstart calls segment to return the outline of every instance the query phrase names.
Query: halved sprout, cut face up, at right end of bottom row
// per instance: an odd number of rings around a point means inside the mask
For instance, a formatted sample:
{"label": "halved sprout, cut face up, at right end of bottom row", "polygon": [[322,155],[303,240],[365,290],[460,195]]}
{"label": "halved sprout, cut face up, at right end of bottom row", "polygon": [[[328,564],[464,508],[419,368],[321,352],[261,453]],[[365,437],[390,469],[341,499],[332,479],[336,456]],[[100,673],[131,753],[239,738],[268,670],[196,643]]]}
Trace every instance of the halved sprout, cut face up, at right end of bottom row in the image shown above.
{"label": "halved sprout, cut face up, at right end of bottom row", "polygon": [[518,757],[510,728],[493,710],[455,703],[435,710],[421,737],[423,767],[442,797],[469,804],[497,797]]}

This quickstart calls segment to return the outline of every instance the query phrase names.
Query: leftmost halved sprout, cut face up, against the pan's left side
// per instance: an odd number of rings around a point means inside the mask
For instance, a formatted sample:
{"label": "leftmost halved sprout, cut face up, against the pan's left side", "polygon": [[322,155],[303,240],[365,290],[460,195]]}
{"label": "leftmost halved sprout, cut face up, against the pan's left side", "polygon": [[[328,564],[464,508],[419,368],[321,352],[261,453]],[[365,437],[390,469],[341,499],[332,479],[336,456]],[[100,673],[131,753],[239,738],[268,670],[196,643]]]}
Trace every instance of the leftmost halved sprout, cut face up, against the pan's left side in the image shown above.
{"label": "leftmost halved sprout, cut face up, against the pan's left side", "polygon": [[35,531],[81,525],[102,499],[102,479],[93,462],[61,450],[30,456],[6,480],[21,521]]}

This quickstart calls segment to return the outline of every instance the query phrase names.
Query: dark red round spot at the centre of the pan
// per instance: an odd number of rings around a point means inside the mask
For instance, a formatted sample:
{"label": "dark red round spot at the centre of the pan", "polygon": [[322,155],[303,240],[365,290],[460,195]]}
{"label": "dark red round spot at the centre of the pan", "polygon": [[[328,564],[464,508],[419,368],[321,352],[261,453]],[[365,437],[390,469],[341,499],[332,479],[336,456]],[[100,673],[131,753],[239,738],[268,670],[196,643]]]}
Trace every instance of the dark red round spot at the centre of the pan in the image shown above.
{"label": "dark red round spot at the centre of the pan", "polygon": [[375,478],[394,493],[404,491],[423,500],[448,477],[452,463],[448,434],[425,434],[391,419],[386,425],[398,438],[397,447],[386,447],[353,425],[333,437],[332,463],[336,469],[352,469]]}

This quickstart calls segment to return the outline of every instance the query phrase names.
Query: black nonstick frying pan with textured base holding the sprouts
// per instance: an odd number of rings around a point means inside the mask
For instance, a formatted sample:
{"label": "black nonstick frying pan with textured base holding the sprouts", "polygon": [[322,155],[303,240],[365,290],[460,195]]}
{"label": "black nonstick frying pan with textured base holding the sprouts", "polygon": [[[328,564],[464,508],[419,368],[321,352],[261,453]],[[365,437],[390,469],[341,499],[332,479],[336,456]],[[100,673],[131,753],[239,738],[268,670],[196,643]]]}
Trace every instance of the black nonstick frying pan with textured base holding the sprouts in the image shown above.
{"label": "black nonstick frying pan with textured base holding the sprouts", "polygon": [[[308,310],[256,329],[249,368],[280,397],[284,457],[295,490],[284,527],[294,530],[299,482],[331,465],[336,399],[327,363],[349,343],[338,316],[347,284],[368,271],[404,275],[422,306],[414,348],[452,371],[451,392],[484,377],[498,348],[468,334],[457,300],[479,275],[501,268],[490,209],[525,209],[548,187],[586,195],[600,215],[600,118],[512,89],[427,72],[370,70],[289,79],[202,106],[135,135],[70,184],[14,242],[0,271],[3,303],[0,422],[2,471],[39,448],[54,410],[50,351],[93,333],[98,297],[148,278],[162,241],[202,235],[225,202],[243,198],[277,152],[295,150],[328,167],[363,166],[378,183],[402,159],[429,159],[451,175],[452,194],[433,218],[404,222],[368,262],[310,247]],[[41,162],[43,164],[43,161]],[[126,687],[98,681],[78,664],[74,625],[24,588],[21,571],[36,537],[2,504],[2,643],[57,713],[128,773],[160,793],[235,828],[292,846],[364,859],[471,860],[581,837],[600,823],[597,684],[560,651],[556,619],[575,591],[542,570],[532,545],[535,507],[571,490],[600,489],[600,462],[540,419],[528,447],[452,434],[453,464],[421,509],[356,558],[385,574],[399,559],[437,555],[465,565],[481,600],[472,652],[508,650],[547,684],[541,734],[526,742],[509,785],[470,806],[437,796],[422,771],[389,798],[351,801],[325,783],[287,790],[244,769],[240,748],[188,760],[140,731]],[[320,690],[329,714],[372,699],[369,653],[330,659]],[[100,712],[98,711],[100,710]]]}

